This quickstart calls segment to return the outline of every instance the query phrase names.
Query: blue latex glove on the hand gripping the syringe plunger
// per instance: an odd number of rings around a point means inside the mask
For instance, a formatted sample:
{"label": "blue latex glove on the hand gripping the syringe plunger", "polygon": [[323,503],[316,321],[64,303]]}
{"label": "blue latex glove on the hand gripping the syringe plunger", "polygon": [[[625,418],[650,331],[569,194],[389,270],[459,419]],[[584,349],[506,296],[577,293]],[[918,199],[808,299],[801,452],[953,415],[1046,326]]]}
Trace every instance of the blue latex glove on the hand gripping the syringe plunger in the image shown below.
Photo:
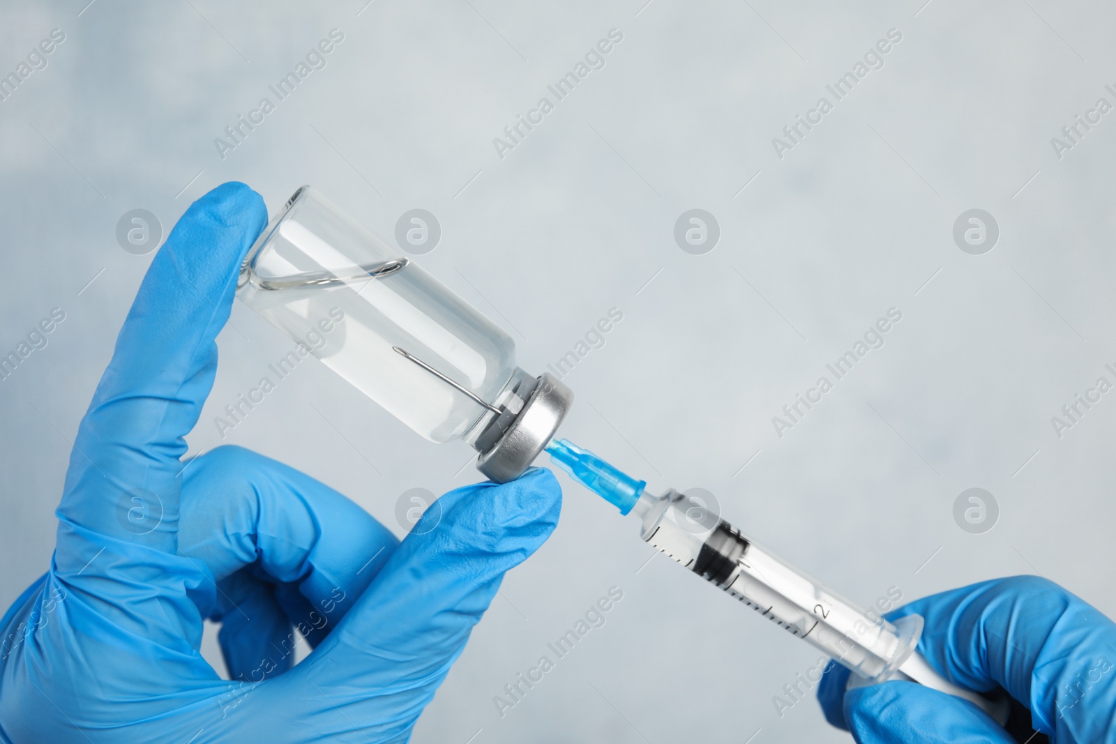
{"label": "blue latex glove on the hand gripping the syringe plunger", "polygon": [[[1116,742],[1116,624],[1058,584],[1013,577],[926,597],[892,612],[926,620],[918,651],[942,676],[997,687],[1057,744]],[[863,744],[1013,742],[972,703],[911,682],[848,692],[830,665],[818,687],[826,718]]]}

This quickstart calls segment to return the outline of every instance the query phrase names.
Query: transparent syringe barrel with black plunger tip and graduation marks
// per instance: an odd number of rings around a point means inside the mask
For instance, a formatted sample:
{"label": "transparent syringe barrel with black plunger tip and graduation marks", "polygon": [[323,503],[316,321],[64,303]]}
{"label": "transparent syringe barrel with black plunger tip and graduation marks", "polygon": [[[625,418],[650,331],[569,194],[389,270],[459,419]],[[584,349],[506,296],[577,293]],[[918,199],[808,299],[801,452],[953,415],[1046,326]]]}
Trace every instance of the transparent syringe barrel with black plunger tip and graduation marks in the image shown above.
{"label": "transparent syringe barrel with black plunger tip and graduation marks", "polygon": [[891,677],[918,640],[921,622],[864,610],[676,491],[644,515],[643,539],[869,682]]}

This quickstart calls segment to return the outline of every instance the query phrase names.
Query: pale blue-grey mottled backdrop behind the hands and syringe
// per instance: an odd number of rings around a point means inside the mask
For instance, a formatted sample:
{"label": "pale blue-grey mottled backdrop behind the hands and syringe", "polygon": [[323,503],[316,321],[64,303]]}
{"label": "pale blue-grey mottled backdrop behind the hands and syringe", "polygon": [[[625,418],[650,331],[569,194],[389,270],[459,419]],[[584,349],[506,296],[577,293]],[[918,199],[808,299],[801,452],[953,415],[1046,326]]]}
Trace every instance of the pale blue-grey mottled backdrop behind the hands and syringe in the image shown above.
{"label": "pale blue-grey mottled backdrop behind the hands and syringe", "polygon": [[[67,438],[151,260],[121,249],[117,220],[143,207],[165,231],[239,180],[272,213],[311,183],[388,238],[430,210],[442,242],[417,260],[507,328],[528,370],[620,308],[566,379],[565,434],[656,490],[710,490],[850,598],[1040,573],[1116,612],[1116,393],[1060,439],[1050,423],[1116,381],[1116,113],[1061,160],[1050,145],[1098,97],[1116,104],[1107,4],[86,2],[0,4],[4,74],[50,29],[67,37],[0,103],[0,350],[67,313],[0,383],[0,605],[48,564]],[[328,66],[222,161],[213,138],[335,27]],[[610,28],[606,67],[500,160],[492,138]],[[771,138],[889,28],[884,68],[779,160]],[[694,207],[721,225],[705,255],[672,235]],[[952,239],[973,207],[1001,230],[984,255]],[[891,307],[886,345],[780,439],[771,417]],[[290,346],[240,303],[232,323],[194,453]],[[401,535],[404,491],[478,479],[464,445],[426,443],[317,361],[224,441]],[[557,532],[507,577],[415,742],[848,741],[812,700],[772,704],[810,647],[647,563],[636,524],[560,480]],[[999,502],[984,534],[953,520],[971,486]],[[492,696],[612,586],[607,625],[500,718]]]}

